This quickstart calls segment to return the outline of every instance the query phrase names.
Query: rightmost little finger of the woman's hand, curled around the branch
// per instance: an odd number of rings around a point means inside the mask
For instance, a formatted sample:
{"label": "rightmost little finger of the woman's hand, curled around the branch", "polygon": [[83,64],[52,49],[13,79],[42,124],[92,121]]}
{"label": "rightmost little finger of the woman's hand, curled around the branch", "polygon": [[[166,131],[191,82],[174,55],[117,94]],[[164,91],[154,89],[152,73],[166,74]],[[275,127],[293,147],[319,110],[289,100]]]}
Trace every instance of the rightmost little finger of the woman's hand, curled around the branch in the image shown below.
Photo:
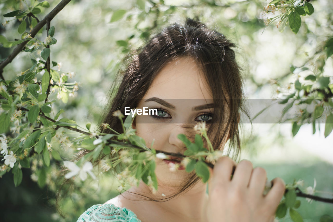
{"label": "rightmost little finger of the woman's hand, curled around the branch", "polygon": [[265,200],[267,201],[268,207],[275,212],[279,202],[281,201],[284,191],[286,189],[286,184],[280,177],[276,177],[272,180],[273,186],[268,191],[267,195],[265,196]]}

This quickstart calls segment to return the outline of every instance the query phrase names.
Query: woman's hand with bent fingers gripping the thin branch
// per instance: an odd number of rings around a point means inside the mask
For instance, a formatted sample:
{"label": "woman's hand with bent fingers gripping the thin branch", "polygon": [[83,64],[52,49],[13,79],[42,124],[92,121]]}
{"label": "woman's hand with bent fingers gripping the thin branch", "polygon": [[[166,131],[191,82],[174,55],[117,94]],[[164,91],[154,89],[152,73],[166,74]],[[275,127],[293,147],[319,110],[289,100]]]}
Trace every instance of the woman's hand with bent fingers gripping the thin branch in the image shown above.
{"label": "woman's hand with bent fingers gripping the thin branch", "polygon": [[[235,172],[231,179],[232,168]],[[248,160],[237,165],[231,158],[219,158],[211,171],[208,201],[203,221],[209,222],[273,222],[276,208],[284,194],[285,183],[277,177],[264,196],[266,171],[253,169]]]}

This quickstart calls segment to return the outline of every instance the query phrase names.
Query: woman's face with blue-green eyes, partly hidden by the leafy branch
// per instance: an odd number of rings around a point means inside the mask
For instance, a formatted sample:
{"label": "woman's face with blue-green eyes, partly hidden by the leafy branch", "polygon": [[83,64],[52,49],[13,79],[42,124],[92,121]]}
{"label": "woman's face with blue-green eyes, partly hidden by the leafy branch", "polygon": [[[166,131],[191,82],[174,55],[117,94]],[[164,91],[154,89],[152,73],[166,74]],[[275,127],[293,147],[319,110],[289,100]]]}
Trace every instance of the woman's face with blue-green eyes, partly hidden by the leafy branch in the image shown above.
{"label": "woman's face with blue-green eyes, partly hidden by the leafy branch", "polygon": [[[161,69],[139,102],[138,108],[156,108],[157,115],[137,115],[133,128],[145,139],[148,147],[154,141],[155,149],[183,153],[186,147],[177,135],[183,133],[188,136],[190,130],[193,136],[192,127],[196,123],[203,120],[209,123],[213,117],[212,101],[210,87],[194,59],[178,58]],[[192,127],[186,129],[185,125]],[[157,159],[156,163],[159,185],[179,187],[188,176],[179,161]],[[180,166],[178,170],[173,170],[174,164]]]}

